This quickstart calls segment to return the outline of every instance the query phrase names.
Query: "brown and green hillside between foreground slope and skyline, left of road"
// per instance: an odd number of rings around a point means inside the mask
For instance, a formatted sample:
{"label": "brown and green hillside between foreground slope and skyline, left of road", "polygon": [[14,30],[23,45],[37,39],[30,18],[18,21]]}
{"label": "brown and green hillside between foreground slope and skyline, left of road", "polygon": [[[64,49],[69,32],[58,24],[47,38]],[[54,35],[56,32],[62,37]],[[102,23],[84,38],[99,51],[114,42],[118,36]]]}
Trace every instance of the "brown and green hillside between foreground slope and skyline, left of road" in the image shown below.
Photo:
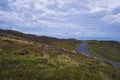
{"label": "brown and green hillside between foreground slope and skyline, left of road", "polygon": [[36,36],[32,34],[24,34],[24,33],[21,33],[18,31],[12,31],[12,30],[0,30],[0,36],[4,36],[4,37],[7,36],[11,38],[38,42],[41,44],[53,45],[58,48],[66,48],[69,50],[74,50],[81,43],[81,41],[76,39],[57,39],[57,38],[47,37],[47,36]]}

